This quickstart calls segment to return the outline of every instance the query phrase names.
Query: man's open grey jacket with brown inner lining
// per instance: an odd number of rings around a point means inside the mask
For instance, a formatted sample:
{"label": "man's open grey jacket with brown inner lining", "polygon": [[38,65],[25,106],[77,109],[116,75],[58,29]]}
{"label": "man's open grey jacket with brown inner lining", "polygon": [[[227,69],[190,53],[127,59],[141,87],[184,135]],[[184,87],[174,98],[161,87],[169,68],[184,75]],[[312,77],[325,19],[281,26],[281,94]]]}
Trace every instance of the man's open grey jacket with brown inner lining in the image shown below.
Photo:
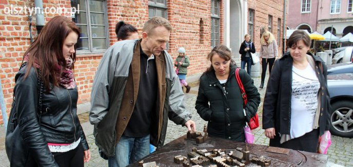
{"label": "man's open grey jacket with brown inner lining", "polygon": [[[139,91],[140,40],[116,42],[105,52],[96,71],[91,92],[89,121],[94,125],[95,144],[102,157],[112,157],[115,146],[129,122]],[[177,125],[191,119],[184,105],[184,93],[171,56],[163,51],[155,56],[158,94],[152,115],[150,142],[164,145],[168,117]]]}

